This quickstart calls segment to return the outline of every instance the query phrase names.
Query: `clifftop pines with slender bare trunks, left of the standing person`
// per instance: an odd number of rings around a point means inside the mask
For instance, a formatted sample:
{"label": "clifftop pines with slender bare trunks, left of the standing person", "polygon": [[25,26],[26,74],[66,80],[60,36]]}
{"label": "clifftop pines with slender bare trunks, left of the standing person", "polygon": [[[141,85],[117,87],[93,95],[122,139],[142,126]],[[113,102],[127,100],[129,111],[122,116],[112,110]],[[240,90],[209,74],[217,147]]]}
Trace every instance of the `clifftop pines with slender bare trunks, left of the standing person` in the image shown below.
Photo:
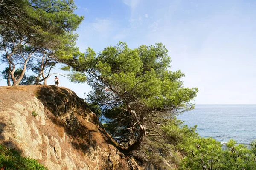
{"label": "clifftop pines with slender bare trunks, left of the standing person", "polygon": [[[0,50],[2,62],[9,67],[12,85],[19,85],[27,68],[38,76],[35,83],[46,83],[51,68],[77,53],[78,37],[73,31],[84,17],[74,14],[73,0],[0,1]],[[35,64],[37,62],[37,64]],[[33,66],[29,64],[34,63]],[[19,77],[15,70],[22,69]],[[41,77],[41,78],[40,78]],[[10,85],[10,82],[7,82]]]}

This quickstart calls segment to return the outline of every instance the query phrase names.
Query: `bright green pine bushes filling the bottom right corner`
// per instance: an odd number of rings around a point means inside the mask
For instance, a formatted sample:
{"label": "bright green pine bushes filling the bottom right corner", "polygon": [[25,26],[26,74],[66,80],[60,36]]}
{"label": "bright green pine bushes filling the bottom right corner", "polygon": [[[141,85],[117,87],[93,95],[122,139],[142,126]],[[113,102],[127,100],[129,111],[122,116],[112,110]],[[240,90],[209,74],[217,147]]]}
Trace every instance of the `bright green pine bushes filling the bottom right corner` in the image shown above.
{"label": "bright green pine bushes filling the bottom right corner", "polygon": [[[252,145],[255,142],[252,142]],[[187,146],[190,153],[182,160],[180,170],[254,170],[255,148],[230,140],[225,150],[220,142],[212,138],[194,139]]]}

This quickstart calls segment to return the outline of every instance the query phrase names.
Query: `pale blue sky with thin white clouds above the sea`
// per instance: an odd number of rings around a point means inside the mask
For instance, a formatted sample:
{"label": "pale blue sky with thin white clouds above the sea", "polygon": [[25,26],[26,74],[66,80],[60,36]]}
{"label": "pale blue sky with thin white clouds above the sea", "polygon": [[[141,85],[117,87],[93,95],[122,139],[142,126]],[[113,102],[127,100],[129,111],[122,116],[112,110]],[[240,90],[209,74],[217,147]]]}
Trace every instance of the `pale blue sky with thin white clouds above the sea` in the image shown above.
{"label": "pale blue sky with thin white clouds above the sea", "polygon": [[[75,0],[81,52],[162,42],[196,104],[256,104],[255,0]],[[4,65],[0,65],[0,70]],[[55,70],[56,73],[60,71]],[[54,84],[54,77],[48,84]],[[91,88],[59,77],[81,98]],[[6,85],[6,81],[0,81]]]}

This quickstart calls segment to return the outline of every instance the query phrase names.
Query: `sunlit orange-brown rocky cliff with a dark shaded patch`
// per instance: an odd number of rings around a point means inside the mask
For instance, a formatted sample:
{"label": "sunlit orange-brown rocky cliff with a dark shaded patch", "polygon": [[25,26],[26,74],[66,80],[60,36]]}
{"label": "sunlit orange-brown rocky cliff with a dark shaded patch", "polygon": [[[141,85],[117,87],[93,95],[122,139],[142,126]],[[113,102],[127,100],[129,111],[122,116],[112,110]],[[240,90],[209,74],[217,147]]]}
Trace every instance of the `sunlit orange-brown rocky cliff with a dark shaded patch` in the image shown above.
{"label": "sunlit orange-brown rocky cliff with a dark shaded patch", "polygon": [[0,143],[49,170],[125,170],[95,114],[76,94],[49,85],[0,87]]}

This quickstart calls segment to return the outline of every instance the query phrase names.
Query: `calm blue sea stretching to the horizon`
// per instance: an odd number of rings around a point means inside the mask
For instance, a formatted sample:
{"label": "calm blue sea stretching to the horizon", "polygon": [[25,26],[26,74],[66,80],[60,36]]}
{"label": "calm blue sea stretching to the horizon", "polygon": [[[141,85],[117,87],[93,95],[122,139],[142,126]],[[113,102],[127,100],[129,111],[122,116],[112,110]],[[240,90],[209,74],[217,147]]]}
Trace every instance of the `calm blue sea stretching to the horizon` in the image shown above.
{"label": "calm blue sea stretching to the horizon", "polygon": [[198,125],[200,136],[223,143],[235,139],[250,144],[256,139],[256,105],[195,105],[177,118],[189,127]]}

